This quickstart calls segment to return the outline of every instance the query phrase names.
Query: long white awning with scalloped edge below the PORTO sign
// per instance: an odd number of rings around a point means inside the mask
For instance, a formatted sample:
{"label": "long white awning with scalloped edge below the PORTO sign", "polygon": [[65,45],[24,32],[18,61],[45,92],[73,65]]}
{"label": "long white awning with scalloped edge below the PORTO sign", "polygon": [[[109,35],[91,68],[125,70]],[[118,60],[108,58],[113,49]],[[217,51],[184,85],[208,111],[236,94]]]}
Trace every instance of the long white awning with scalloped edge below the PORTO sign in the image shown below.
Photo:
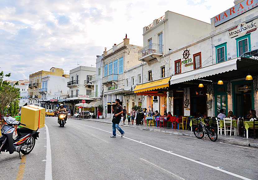
{"label": "long white awning with scalloped edge below the PORTO sign", "polygon": [[206,76],[220,74],[232,70],[237,70],[237,58],[215,65],[206,66],[197,70],[174,75],[170,80],[170,84],[182,83],[193,79],[200,79]]}

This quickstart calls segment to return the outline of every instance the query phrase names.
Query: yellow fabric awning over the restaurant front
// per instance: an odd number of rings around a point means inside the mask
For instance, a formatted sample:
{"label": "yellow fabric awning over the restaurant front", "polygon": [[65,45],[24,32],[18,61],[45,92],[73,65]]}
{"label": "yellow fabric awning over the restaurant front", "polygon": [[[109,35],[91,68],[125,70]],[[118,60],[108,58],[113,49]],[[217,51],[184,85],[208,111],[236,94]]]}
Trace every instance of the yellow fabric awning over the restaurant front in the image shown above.
{"label": "yellow fabric awning over the restaurant front", "polygon": [[167,88],[169,86],[170,78],[171,77],[137,85],[134,88],[134,93],[150,91],[150,90],[160,89],[160,88]]}

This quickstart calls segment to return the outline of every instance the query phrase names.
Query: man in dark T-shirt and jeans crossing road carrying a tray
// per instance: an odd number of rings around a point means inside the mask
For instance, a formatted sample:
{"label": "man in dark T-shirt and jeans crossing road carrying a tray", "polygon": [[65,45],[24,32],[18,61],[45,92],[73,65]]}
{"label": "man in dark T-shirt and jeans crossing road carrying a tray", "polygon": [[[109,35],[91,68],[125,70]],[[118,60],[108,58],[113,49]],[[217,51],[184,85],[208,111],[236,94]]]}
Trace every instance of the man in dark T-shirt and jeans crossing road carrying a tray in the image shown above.
{"label": "man in dark T-shirt and jeans crossing road carrying a tray", "polygon": [[125,134],[125,132],[118,126],[123,114],[123,107],[119,104],[119,102],[120,100],[116,99],[115,106],[112,106],[112,112],[114,113],[114,116],[112,119],[113,136],[110,136],[110,137],[116,137],[116,128],[121,133],[121,137],[123,137]]}

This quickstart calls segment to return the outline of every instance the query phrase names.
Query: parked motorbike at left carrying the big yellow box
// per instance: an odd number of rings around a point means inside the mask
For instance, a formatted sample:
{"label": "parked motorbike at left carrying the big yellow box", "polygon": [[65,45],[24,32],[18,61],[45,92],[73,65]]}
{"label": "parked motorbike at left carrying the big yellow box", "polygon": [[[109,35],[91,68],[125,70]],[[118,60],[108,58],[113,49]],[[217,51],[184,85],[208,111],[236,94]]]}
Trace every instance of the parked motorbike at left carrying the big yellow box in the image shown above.
{"label": "parked motorbike at left carrying the big yellow box", "polygon": [[17,128],[17,136],[13,138],[15,127],[26,125],[16,121],[16,119],[11,116],[1,116],[1,118],[7,124],[4,124],[1,128],[2,136],[0,137],[0,153],[9,151],[10,154],[13,154],[13,152],[16,151],[19,153],[21,159],[20,153],[27,155],[33,150],[35,140],[39,137],[39,132],[37,132],[39,128],[35,131],[25,127]]}

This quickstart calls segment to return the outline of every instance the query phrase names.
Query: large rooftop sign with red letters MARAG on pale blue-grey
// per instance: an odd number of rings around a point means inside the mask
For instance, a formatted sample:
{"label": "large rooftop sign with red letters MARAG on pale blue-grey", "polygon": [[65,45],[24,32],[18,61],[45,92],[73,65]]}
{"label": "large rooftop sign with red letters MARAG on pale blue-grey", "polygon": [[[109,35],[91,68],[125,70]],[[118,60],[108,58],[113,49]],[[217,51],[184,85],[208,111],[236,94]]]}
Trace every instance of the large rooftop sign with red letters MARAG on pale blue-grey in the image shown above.
{"label": "large rooftop sign with red letters MARAG on pale blue-grey", "polygon": [[227,22],[258,6],[258,0],[245,0],[214,17],[214,26]]}

